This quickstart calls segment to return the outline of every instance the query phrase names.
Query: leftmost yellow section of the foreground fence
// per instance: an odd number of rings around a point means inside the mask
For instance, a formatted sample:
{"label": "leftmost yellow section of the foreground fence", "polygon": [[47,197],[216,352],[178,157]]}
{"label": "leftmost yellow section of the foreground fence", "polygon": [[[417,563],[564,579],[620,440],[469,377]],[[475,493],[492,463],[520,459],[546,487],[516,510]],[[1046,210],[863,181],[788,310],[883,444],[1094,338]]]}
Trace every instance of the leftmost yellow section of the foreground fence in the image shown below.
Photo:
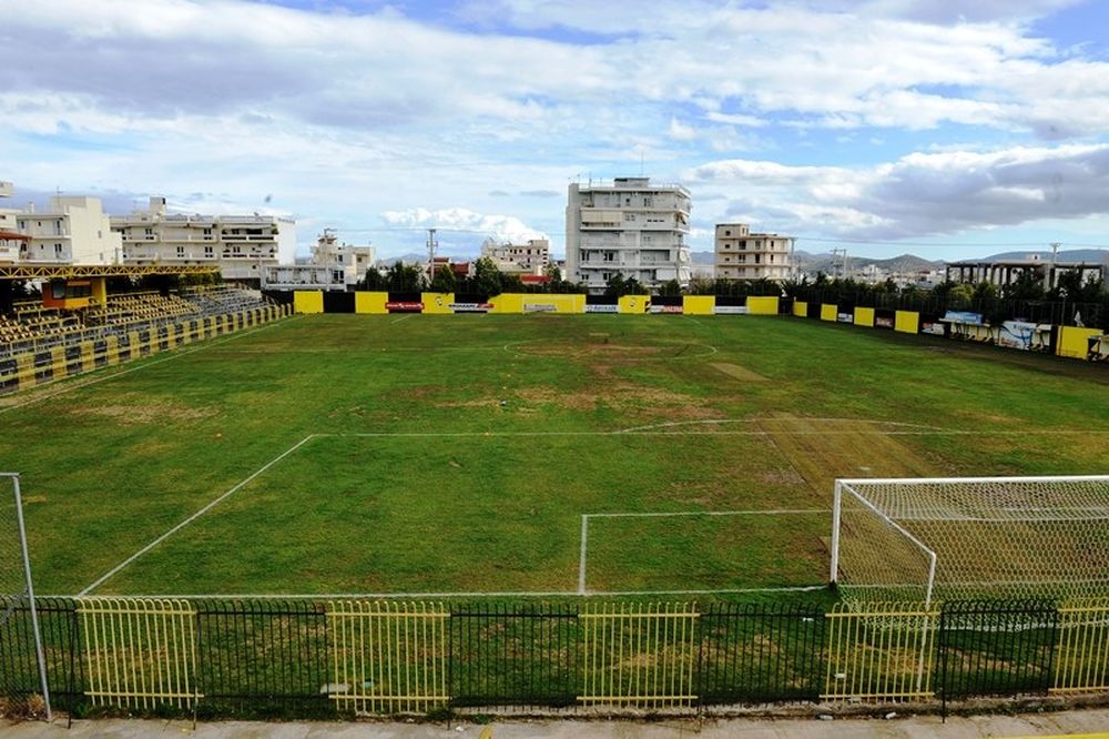
{"label": "leftmost yellow section of the foreground fence", "polygon": [[88,690],[94,705],[192,707],[196,610],[185,600],[79,598]]}

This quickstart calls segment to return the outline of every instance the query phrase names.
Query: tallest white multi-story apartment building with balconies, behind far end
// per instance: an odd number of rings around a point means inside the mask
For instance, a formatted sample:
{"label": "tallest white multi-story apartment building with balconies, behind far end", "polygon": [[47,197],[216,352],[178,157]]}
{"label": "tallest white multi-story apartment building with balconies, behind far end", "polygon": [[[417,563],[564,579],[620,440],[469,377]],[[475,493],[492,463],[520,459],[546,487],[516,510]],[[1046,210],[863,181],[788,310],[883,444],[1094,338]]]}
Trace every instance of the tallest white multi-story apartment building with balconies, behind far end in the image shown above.
{"label": "tallest white multi-story apartment building with balconies, behind far end", "polygon": [[615,275],[648,287],[690,281],[685,243],[692,199],[678,184],[617,178],[570,185],[566,206],[567,279],[599,293]]}

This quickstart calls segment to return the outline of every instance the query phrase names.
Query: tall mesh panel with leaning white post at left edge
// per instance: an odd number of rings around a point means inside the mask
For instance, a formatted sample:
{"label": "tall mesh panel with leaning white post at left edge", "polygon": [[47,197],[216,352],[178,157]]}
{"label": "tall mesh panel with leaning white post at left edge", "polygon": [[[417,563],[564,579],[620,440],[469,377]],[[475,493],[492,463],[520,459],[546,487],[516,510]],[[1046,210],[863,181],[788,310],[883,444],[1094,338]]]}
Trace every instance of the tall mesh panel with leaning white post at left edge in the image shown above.
{"label": "tall mesh panel with leaning white post at left edge", "polygon": [[[30,615],[30,630],[21,624]],[[50,688],[47,685],[47,664],[39,629],[39,614],[34,607],[34,586],[31,580],[31,559],[27,553],[27,527],[23,524],[23,499],[19,489],[19,475],[0,473],[0,652],[7,652],[0,662],[0,696],[33,690],[24,679],[38,672],[47,720],[50,711]],[[34,667],[30,665],[33,662]]]}

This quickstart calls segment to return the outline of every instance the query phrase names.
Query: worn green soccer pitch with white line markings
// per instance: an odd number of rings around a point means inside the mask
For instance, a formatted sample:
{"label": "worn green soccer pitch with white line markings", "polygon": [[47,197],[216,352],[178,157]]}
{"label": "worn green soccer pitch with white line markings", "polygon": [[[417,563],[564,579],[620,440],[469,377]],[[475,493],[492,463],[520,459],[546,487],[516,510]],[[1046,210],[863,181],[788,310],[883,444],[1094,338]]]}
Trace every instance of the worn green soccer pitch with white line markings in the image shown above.
{"label": "worn green soccer pitch with white line markings", "polygon": [[1106,473],[1109,373],[788,317],[318,315],[0,426],[40,593],[732,597],[826,583],[836,477]]}

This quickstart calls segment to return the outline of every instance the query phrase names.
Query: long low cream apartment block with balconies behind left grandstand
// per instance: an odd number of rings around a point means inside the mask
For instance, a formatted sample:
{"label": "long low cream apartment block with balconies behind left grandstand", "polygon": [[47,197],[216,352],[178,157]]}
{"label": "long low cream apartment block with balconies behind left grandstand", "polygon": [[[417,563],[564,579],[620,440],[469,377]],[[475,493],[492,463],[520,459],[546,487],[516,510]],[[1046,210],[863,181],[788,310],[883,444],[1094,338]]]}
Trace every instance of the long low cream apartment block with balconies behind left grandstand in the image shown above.
{"label": "long low cream apartment block with balconies behind left grandstand", "polygon": [[210,264],[225,280],[262,280],[265,266],[292,264],[296,222],[277,215],[185,215],[166,213],[164,198],[150,207],[113,215],[126,264]]}

